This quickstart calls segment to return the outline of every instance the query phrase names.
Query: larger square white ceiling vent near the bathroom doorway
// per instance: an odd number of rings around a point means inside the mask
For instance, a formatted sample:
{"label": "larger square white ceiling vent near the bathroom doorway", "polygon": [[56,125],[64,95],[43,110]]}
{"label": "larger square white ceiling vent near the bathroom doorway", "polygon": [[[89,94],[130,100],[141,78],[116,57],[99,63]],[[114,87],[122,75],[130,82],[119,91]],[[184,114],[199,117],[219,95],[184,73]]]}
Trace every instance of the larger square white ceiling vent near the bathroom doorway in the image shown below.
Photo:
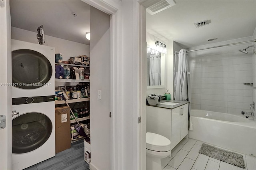
{"label": "larger square white ceiling vent near the bathroom doorway", "polygon": [[167,8],[170,8],[171,6],[176,5],[173,0],[152,0],[150,2],[152,2],[152,4],[146,10],[151,15],[154,15],[158,12],[166,10]]}

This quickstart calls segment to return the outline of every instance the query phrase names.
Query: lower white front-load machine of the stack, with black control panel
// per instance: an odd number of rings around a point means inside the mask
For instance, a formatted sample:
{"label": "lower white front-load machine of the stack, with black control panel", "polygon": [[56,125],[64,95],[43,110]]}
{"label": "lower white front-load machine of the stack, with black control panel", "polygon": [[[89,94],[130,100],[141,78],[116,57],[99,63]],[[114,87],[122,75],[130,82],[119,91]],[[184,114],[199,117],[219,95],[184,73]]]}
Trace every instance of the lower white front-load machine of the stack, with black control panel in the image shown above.
{"label": "lower white front-load machine of the stack, with black control panel", "polygon": [[12,168],[22,170],[55,156],[54,96],[12,99]]}

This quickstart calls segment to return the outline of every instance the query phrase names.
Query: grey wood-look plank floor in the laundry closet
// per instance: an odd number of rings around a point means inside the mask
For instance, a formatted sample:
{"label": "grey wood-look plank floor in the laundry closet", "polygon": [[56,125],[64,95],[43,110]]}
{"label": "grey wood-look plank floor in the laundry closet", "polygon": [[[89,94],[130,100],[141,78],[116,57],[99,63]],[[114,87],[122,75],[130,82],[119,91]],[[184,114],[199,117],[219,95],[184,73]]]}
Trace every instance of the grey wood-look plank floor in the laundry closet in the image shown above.
{"label": "grey wood-look plank floor in the laundry closet", "polygon": [[89,164],[84,161],[84,140],[72,143],[71,148],[25,170],[89,170]]}

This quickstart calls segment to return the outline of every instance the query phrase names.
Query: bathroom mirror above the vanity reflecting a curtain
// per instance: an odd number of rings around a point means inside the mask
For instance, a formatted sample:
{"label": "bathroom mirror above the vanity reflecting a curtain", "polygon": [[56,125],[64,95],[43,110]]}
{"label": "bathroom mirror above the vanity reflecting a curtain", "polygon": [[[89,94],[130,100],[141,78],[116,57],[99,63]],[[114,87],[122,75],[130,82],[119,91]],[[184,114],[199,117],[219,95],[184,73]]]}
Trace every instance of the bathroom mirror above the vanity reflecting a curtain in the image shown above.
{"label": "bathroom mirror above the vanity reflecting a curtain", "polygon": [[148,47],[147,65],[148,89],[165,88],[166,54]]}

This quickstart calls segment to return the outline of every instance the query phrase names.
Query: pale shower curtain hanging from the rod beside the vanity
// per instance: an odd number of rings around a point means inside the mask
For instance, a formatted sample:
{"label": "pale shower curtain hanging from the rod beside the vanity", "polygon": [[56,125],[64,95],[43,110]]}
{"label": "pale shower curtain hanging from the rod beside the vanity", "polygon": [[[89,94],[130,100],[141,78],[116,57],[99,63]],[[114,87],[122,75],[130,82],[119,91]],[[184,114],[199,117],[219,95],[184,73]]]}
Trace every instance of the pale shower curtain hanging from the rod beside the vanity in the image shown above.
{"label": "pale shower curtain hanging from the rod beside the vanity", "polygon": [[[175,53],[174,58],[174,100],[190,101],[190,74],[186,49]],[[188,129],[192,130],[190,119],[191,104],[188,105]]]}

